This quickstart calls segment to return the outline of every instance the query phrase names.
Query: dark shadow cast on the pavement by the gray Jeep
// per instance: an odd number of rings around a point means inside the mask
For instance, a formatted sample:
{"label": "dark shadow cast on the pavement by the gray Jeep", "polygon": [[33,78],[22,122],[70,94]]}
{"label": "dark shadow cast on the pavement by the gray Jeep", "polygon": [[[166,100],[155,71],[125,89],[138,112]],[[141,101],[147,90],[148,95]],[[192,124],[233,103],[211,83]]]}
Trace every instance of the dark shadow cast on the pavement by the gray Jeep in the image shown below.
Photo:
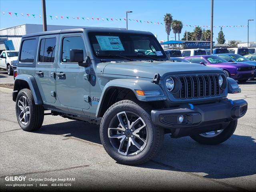
{"label": "dark shadow cast on the pavement by the gray Jeep", "polygon": [[[69,121],[42,126],[40,134],[67,134],[101,144],[99,126]],[[206,173],[206,178],[234,178],[256,174],[256,143],[250,136],[233,135],[216,146],[201,145],[190,137],[170,139],[153,159],[140,167],[181,172]]]}

